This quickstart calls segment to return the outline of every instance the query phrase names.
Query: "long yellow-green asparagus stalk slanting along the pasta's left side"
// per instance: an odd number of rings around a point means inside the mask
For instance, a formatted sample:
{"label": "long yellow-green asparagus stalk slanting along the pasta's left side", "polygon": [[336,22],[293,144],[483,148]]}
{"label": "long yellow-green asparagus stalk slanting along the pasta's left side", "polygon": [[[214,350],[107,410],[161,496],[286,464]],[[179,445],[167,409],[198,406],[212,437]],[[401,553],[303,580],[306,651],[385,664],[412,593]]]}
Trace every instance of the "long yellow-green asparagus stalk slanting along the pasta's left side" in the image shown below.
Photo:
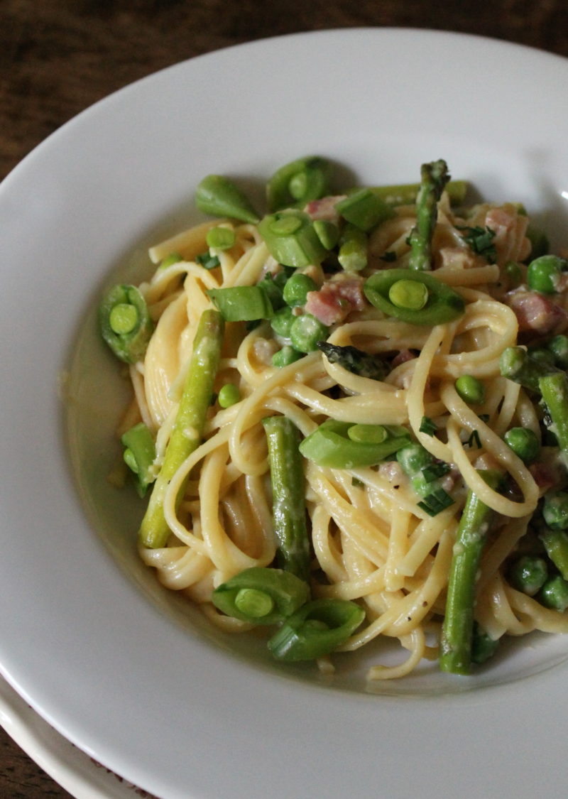
{"label": "long yellow-green asparagus stalk slanting along the pasta's left side", "polygon": [[164,517],[165,491],[181,463],[201,442],[205,417],[213,395],[213,381],[219,368],[223,331],[224,321],[218,311],[208,308],[201,314],[193,341],[189,372],[165,451],[164,463],[154,484],[138,534],[145,547],[164,547],[168,539],[169,527]]}

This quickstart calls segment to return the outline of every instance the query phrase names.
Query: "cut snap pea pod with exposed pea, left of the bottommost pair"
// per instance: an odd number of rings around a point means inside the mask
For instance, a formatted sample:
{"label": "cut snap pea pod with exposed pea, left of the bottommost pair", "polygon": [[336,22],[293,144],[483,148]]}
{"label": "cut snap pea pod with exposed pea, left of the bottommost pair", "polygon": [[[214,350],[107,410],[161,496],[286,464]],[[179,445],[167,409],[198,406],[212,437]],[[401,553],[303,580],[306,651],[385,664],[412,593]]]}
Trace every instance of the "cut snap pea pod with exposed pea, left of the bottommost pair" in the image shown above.
{"label": "cut snap pea pod with exposed pea, left of the bottommost pair", "polygon": [[243,622],[277,624],[310,598],[308,583],[283,569],[252,566],[218,586],[213,605]]}

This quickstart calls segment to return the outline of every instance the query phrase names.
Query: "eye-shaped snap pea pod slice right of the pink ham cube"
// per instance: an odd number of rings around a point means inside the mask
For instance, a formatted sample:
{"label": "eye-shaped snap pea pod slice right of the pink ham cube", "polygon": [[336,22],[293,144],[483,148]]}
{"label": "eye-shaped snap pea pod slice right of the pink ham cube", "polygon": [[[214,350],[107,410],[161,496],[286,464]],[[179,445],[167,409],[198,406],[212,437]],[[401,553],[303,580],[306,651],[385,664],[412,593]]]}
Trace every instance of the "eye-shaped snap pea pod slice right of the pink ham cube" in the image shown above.
{"label": "eye-shaped snap pea pod slice right of the pink ham cube", "polygon": [[[427,299],[422,308],[414,303],[404,306],[403,297],[408,296],[406,287],[397,297],[399,283],[415,281],[427,288]],[[387,314],[409,324],[444,324],[459,319],[465,312],[465,303],[457,292],[424,272],[411,272],[409,269],[383,269],[368,278],[363,286],[367,300]],[[397,301],[397,304],[393,302]]]}

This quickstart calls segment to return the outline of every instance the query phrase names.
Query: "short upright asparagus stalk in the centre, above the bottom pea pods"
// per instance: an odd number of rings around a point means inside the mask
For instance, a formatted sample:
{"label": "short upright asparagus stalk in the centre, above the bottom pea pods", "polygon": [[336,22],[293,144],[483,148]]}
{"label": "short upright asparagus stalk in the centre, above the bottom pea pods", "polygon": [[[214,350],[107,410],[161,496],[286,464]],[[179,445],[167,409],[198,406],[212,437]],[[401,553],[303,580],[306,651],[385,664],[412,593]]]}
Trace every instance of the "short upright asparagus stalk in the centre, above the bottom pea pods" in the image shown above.
{"label": "short upright asparagus stalk in the centre, above the bottom pea pods", "polygon": [[276,559],[284,570],[308,580],[310,546],[300,431],[286,416],[268,416],[262,423],[268,443]]}

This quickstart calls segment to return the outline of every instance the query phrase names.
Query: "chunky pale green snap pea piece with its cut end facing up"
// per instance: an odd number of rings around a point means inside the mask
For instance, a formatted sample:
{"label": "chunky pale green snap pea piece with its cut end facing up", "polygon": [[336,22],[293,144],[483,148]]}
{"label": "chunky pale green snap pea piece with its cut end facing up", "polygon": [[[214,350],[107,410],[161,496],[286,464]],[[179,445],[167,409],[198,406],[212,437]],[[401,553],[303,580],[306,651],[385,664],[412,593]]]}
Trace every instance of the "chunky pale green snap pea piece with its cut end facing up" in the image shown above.
{"label": "chunky pale green snap pea piece with its cut end facing up", "polygon": [[302,211],[277,211],[264,217],[258,232],[268,252],[284,266],[306,267],[320,264],[327,254],[312,220]]}

